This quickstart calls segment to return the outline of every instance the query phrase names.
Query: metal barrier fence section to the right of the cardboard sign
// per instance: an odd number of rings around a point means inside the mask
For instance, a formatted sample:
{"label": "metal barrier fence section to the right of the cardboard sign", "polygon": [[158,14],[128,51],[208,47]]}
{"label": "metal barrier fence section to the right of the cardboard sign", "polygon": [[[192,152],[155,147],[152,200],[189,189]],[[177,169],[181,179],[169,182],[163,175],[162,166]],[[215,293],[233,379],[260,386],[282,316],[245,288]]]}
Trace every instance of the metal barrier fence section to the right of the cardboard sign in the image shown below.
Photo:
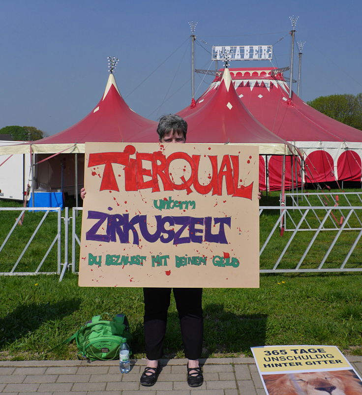
{"label": "metal barrier fence section to the right of the cardboard sign", "polygon": [[[361,206],[275,209],[268,206],[259,210],[260,273],[362,271]],[[339,220],[336,212],[341,215]],[[293,224],[288,229],[286,218]]]}

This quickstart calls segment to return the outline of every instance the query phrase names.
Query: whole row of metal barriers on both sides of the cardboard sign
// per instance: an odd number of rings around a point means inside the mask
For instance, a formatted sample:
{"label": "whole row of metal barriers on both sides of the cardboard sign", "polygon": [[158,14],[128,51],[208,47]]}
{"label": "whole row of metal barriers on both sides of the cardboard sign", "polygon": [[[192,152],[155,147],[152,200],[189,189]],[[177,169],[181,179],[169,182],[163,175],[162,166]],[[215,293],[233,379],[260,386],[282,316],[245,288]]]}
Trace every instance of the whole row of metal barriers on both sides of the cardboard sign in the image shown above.
{"label": "whole row of metal barriers on both sides of the cardboard sign", "polygon": [[[42,212],[34,213],[32,208],[0,208],[0,213],[20,212],[6,237],[3,232],[0,234],[0,275],[58,273],[61,281],[67,269],[77,272],[81,225],[81,216],[78,217],[78,214],[83,209],[73,208],[71,216],[68,208],[62,212],[64,216],[61,216],[60,208],[36,210]],[[19,226],[24,213],[27,213],[24,225]],[[30,213],[37,214],[31,221]],[[261,206],[259,218],[260,273],[362,271],[362,206]],[[45,229],[46,234],[43,231],[41,235],[42,226],[47,220],[51,225]],[[1,228],[4,229],[3,222]],[[54,234],[49,231],[52,228]],[[42,238],[42,243],[36,241],[37,236]],[[15,239],[13,243],[12,238]],[[25,255],[32,243],[36,242],[38,261],[35,262],[35,253],[31,254],[30,251],[30,256]],[[12,252],[15,243],[17,252]],[[19,245],[24,247],[19,248]],[[39,245],[42,251],[39,251]],[[53,251],[53,247],[56,251]],[[40,271],[44,265],[54,270]],[[18,271],[21,266],[28,270]]]}

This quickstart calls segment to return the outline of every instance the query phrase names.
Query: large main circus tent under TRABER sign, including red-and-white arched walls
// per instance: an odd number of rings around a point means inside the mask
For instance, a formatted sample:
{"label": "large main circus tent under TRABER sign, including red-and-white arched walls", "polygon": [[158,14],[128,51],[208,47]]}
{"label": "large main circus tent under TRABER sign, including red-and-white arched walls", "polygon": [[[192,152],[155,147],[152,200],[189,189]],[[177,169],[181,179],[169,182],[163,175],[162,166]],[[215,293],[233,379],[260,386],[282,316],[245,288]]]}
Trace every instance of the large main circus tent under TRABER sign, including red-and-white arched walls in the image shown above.
{"label": "large main circus tent under TRABER sign, including red-and-white arched walls", "polygon": [[[300,164],[297,163],[299,184],[301,178],[303,182],[361,181],[361,130],[316,111],[294,92],[289,100],[289,86],[282,73],[278,73],[274,67],[232,68],[230,73],[238,96],[251,114],[303,153],[305,172],[300,171]],[[200,111],[211,100],[220,81],[221,77],[217,76],[209,89],[196,101],[196,106],[188,107],[179,114],[187,116],[191,112]],[[267,165],[270,189],[280,189],[282,159],[268,156]],[[286,158],[285,168],[286,187],[290,187],[290,157]]]}

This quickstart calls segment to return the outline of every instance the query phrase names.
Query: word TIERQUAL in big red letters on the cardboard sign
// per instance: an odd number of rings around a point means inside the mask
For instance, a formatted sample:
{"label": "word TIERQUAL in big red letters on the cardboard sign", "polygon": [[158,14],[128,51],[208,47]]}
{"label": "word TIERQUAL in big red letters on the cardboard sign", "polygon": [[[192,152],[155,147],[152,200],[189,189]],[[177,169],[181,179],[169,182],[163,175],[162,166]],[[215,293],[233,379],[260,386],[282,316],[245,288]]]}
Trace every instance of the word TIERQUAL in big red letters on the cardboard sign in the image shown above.
{"label": "word TIERQUAL in big red letters on the cardboard sign", "polygon": [[[131,158],[131,155],[135,155],[135,158]],[[119,192],[120,189],[112,167],[112,164],[117,163],[124,166],[124,186],[126,191],[151,189],[152,192],[160,192],[160,180],[164,191],[185,189],[187,194],[196,191],[202,195],[210,192],[212,192],[212,195],[222,195],[223,179],[225,178],[227,195],[246,199],[252,198],[253,182],[247,186],[238,186],[241,182],[239,180],[238,155],[225,154],[222,156],[220,164],[218,163],[220,157],[217,155],[204,155],[211,164],[211,173],[208,177],[210,182],[207,185],[199,182],[201,156],[189,155],[186,152],[172,152],[168,156],[161,151],[152,153],[136,152],[135,147],[128,145],[123,152],[90,153],[88,167],[105,165],[101,177],[100,191],[111,190]],[[191,169],[191,175],[188,180],[184,176],[180,177],[180,184],[174,182],[173,178],[170,177],[172,174],[169,172],[171,163],[177,159],[187,162]],[[143,161],[151,162],[151,169],[144,168]],[[247,163],[250,163],[250,160]],[[151,179],[145,181],[144,176],[151,177]]]}

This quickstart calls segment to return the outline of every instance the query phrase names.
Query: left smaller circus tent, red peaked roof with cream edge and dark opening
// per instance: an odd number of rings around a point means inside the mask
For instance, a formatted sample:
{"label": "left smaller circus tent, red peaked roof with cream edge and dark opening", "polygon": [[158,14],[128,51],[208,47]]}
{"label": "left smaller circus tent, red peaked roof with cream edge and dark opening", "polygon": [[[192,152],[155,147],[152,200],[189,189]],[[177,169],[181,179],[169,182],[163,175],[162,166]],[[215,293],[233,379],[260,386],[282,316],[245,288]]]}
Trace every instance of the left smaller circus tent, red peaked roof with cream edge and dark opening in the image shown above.
{"label": "left smaller circus tent, red peaked roof with cream edge and dark opening", "polygon": [[[41,140],[1,146],[0,154],[37,154],[35,188],[61,189],[74,193],[83,184],[86,142],[132,142],[133,136],[146,128],[155,130],[157,122],[148,120],[129,108],[109,75],[103,96],[91,112],[67,129]],[[82,155],[77,155],[77,154]]]}

